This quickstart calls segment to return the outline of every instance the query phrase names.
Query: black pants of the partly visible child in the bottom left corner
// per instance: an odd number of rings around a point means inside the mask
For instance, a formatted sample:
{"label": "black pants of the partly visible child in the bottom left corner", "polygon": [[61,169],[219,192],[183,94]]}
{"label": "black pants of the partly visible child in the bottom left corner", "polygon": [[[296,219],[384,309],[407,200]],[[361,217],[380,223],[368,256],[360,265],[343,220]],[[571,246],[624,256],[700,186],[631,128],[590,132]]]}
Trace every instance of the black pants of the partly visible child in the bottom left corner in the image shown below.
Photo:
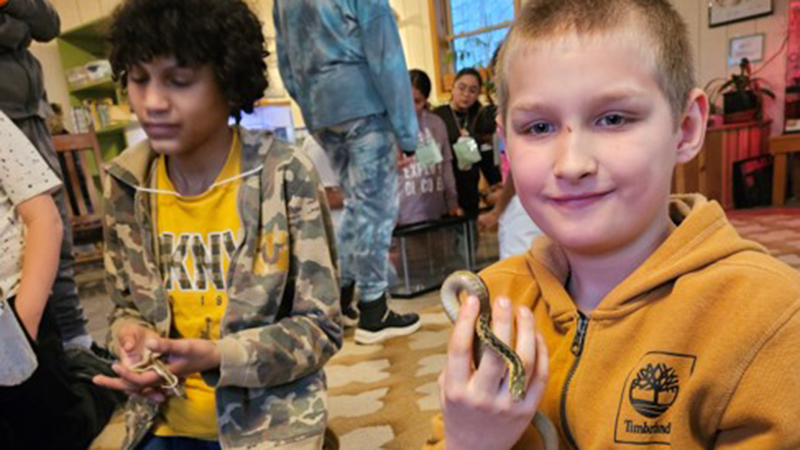
{"label": "black pants of the partly visible child in the bottom left corner", "polygon": [[38,340],[28,340],[39,366],[21,385],[0,387],[0,448],[86,450],[123,396],[91,382],[96,365],[67,357],[49,305]]}

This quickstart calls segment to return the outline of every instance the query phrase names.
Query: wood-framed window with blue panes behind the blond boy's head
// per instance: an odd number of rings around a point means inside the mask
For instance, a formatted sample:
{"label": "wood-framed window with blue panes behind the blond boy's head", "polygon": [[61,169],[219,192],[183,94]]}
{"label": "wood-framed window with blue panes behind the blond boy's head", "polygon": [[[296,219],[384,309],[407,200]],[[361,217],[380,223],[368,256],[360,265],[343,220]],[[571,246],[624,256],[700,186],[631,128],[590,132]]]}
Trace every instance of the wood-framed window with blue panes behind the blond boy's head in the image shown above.
{"label": "wood-framed window with blue panes behind the blond boy's head", "polygon": [[439,91],[464,67],[487,67],[521,0],[429,0]]}

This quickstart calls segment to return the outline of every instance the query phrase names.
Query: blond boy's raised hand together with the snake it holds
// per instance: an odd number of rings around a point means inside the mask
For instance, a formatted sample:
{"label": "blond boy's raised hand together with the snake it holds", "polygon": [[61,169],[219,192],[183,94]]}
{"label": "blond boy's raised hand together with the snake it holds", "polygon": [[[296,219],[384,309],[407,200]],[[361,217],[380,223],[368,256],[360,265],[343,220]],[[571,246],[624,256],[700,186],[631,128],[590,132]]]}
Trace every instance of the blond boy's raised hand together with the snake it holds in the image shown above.
{"label": "blond boy's raised hand together with the snake it holds", "polygon": [[470,272],[445,281],[442,303],[455,324],[439,378],[446,448],[509,449],[533,421],[544,448],[557,449],[555,429],[536,413],[548,357],[530,309],[512,311],[505,297],[490,304],[485,285]]}

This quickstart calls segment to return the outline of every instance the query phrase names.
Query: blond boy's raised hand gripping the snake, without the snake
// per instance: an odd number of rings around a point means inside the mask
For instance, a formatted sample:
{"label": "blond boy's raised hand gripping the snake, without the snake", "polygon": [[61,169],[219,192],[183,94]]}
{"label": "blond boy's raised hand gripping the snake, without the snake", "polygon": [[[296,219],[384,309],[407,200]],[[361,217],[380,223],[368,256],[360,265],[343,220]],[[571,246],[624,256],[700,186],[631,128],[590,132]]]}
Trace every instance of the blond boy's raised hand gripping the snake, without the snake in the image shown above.
{"label": "blond boy's raised hand gripping the snake, without the snake", "polygon": [[[515,346],[525,366],[525,397],[512,400],[505,363],[495,352],[484,352],[474,369],[472,343],[478,314],[478,299],[469,297],[455,323],[445,370],[439,377],[447,449],[511,448],[533,419],[547,382],[547,348],[525,307],[516,313]],[[492,330],[503,342],[511,341],[514,316],[507,298],[498,299],[492,307]]]}

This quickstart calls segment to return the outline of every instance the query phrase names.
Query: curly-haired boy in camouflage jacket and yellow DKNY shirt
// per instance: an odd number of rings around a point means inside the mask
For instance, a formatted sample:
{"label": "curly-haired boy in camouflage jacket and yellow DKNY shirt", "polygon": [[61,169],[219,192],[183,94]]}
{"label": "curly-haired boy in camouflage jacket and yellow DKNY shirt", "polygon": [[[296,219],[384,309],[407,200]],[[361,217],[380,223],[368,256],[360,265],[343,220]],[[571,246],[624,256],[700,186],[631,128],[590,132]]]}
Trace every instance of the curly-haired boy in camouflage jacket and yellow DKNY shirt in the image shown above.
{"label": "curly-haired boy in camouflage jacket and yellow DKNY shirt", "polygon": [[[310,161],[228,125],[267,87],[240,0],[129,0],[111,65],[148,139],[107,168],[109,346],[124,448],[318,449],[341,347],[330,214]],[[160,355],[185,395],[139,363]],[[150,367],[150,366],[147,366]]]}

